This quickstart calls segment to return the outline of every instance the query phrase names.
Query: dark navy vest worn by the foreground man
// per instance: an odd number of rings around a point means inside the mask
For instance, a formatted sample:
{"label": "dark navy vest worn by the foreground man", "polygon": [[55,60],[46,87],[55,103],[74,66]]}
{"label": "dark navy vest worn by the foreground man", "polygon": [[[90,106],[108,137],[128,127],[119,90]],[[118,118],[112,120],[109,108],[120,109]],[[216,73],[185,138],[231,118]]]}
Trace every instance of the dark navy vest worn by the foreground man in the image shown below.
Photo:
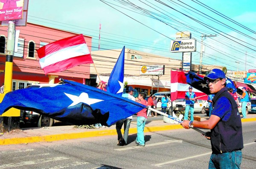
{"label": "dark navy vest worn by the foreground man", "polygon": [[227,88],[224,87],[218,93],[216,93],[212,99],[213,107],[215,106],[215,102],[221,97],[226,97],[229,99],[230,104],[232,105],[232,113],[227,121],[222,121],[222,119],[220,119],[217,125],[211,130],[211,145],[213,154],[232,152],[244,148],[242,123],[237,108],[237,103],[233,99],[233,96],[227,92]]}

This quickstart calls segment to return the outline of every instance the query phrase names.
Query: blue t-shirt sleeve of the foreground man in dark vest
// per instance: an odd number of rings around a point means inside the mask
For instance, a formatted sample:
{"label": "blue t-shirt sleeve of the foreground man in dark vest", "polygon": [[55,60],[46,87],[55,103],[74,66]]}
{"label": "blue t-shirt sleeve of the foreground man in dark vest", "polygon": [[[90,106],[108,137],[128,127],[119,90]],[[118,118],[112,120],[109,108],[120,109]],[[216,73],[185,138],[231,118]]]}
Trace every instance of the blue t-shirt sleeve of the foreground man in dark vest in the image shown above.
{"label": "blue t-shirt sleeve of the foreground man in dark vest", "polygon": [[217,115],[222,121],[227,121],[231,115],[232,104],[226,97],[221,97],[214,104],[212,115]]}

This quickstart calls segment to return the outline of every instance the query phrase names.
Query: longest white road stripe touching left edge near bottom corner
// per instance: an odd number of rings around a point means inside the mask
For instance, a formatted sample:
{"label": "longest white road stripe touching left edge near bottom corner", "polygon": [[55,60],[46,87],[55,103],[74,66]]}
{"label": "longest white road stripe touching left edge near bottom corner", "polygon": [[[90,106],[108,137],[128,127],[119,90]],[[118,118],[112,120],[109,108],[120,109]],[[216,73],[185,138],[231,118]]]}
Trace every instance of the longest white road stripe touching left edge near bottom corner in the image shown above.
{"label": "longest white road stripe touching left edge near bottom corner", "polygon": [[48,163],[52,161],[58,161],[58,160],[66,160],[69,159],[67,157],[54,157],[54,158],[46,158],[46,159],[39,159],[35,161],[22,161],[18,163],[9,163],[9,164],[3,164],[0,166],[0,169],[6,169],[10,167],[19,167],[19,166],[26,166],[31,164],[38,164],[38,163]]}

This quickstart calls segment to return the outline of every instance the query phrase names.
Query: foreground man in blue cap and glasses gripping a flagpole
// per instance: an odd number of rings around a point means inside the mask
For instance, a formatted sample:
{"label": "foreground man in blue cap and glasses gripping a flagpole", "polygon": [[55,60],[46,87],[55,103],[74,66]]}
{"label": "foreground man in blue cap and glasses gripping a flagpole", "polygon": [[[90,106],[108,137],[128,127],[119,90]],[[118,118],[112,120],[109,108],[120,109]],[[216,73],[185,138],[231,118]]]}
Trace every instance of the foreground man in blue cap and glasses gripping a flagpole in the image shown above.
{"label": "foreground man in blue cap and glasses gripping a flagpole", "polygon": [[197,127],[210,129],[205,138],[211,140],[212,155],[209,169],[239,169],[242,161],[243,146],[242,124],[236,101],[227,92],[226,76],[220,69],[213,69],[204,76],[212,99],[212,115],[206,121],[187,121],[185,129]]}

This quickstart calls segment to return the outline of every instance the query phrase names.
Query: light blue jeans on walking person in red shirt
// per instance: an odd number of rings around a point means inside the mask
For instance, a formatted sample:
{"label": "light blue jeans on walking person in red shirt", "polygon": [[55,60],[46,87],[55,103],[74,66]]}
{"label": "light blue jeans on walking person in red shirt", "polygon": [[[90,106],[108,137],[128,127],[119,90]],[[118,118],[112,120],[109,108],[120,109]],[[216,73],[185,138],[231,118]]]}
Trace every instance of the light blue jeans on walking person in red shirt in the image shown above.
{"label": "light blue jeans on walking person in red shirt", "polygon": [[137,117],[137,138],[136,142],[145,145],[145,139],[144,139],[144,128],[146,124],[147,119],[142,116]]}

